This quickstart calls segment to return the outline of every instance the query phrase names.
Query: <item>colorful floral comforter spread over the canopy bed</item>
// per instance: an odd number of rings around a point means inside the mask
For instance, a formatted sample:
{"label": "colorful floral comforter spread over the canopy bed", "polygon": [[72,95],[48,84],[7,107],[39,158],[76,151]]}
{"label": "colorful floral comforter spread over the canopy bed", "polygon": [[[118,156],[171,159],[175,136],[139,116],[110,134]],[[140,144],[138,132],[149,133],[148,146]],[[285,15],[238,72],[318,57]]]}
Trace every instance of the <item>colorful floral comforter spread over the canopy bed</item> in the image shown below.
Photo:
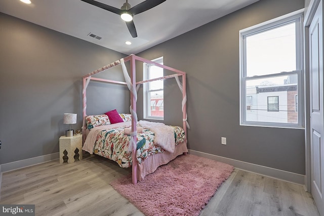
{"label": "colorful floral comforter spread over the canopy bed", "polygon": [[[129,152],[130,135],[124,135],[125,127],[129,127],[131,122],[117,123],[112,125],[99,126],[91,129],[84,150],[90,153],[95,153],[100,156],[116,161],[120,167],[132,166],[132,153]],[[139,125],[138,125],[139,126]],[[182,143],[185,140],[184,130],[180,126],[170,126],[174,129],[175,145]],[[92,136],[92,141],[89,141],[89,136]],[[89,139],[89,140],[88,140]],[[165,152],[160,146],[153,143],[154,133],[147,128],[143,128],[141,134],[137,134],[137,152],[136,157],[138,163],[141,163],[144,158],[156,153]]]}

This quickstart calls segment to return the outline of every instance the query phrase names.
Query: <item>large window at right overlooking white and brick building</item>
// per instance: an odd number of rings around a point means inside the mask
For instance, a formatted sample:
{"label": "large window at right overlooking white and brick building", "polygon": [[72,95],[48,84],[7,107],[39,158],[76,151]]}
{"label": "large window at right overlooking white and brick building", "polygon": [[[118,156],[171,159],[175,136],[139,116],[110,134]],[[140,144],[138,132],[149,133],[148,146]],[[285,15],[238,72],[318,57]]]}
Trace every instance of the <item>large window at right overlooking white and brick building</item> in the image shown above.
{"label": "large window at right overlooking white and brick building", "polygon": [[240,30],[240,125],[303,127],[302,23],[294,13]]}

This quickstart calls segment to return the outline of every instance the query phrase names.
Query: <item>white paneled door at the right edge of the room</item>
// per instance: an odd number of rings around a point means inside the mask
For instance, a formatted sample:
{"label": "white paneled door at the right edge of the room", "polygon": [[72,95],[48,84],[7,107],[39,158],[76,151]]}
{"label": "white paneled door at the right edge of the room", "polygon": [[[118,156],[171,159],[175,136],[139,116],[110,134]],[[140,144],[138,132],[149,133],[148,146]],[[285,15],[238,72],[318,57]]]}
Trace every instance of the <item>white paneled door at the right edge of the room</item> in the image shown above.
{"label": "white paneled door at the right edge of the room", "polygon": [[311,192],[324,215],[324,115],[322,0],[309,26]]}

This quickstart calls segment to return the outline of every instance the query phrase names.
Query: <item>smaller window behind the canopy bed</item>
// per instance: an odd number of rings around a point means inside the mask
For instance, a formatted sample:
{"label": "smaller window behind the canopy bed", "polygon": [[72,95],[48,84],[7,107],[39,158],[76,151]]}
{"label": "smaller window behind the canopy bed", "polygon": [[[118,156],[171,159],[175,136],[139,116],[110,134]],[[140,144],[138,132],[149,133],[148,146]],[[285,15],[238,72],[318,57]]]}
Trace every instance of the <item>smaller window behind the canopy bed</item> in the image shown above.
{"label": "smaller window behind the canopy bed", "polygon": [[[163,57],[152,60],[153,62],[163,64]],[[143,64],[144,80],[163,77],[163,68],[154,64]],[[144,83],[143,85],[143,107],[144,118],[163,119],[164,118],[164,82],[163,80],[155,80]]]}

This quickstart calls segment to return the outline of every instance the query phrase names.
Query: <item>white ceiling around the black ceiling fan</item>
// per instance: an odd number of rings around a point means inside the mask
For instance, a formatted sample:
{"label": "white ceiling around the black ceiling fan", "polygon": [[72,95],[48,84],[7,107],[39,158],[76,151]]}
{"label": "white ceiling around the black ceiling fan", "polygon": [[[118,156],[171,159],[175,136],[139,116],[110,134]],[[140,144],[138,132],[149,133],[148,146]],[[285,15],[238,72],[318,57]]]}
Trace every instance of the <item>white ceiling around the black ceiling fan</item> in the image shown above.
{"label": "white ceiling around the black ceiling fan", "polygon": [[[126,0],[97,0],[120,8]],[[154,1],[154,0],[151,0]],[[167,0],[134,16],[133,38],[117,14],[80,0],[0,0],[0,12],[124,54],[136,54],[259,0]],[[143,0],[129,0],[132,7]],[[98,35],[98,40],[89,33]],[[126,45],[125,41],[132,45]]]}

